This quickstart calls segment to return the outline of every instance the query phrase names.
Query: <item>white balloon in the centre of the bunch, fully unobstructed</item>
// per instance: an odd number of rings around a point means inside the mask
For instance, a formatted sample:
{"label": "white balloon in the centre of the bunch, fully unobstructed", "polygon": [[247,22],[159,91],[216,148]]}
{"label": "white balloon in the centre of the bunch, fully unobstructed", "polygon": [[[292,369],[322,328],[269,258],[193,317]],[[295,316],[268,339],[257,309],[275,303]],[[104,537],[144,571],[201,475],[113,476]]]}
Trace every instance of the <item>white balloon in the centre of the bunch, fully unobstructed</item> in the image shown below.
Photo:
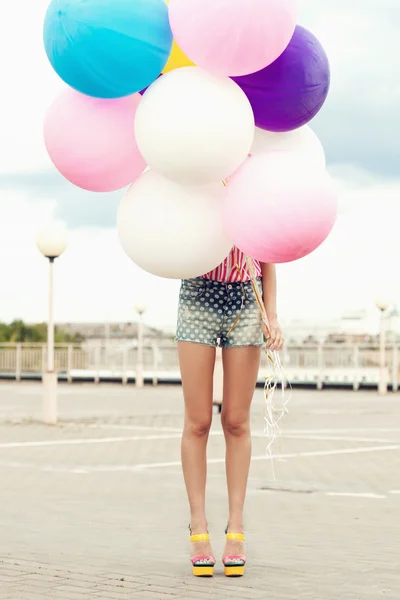
{"label": "white balloon in the centre of the bunch, fully unobstructed", "polygon": [[147,163],[189,185],[231,175],[246,160],[254,129],[253,110],[240,87],[198,67],[157,79],[135,116],[136,142]]}

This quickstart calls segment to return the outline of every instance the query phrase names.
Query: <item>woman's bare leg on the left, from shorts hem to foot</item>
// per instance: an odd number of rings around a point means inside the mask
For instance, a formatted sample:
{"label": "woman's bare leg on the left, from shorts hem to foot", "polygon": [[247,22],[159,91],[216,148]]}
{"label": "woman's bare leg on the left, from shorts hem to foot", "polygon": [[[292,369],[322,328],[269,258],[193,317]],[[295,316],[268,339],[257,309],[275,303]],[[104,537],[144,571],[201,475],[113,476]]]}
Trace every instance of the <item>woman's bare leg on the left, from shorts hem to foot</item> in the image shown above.
{"label": "woman's bare leg on the left, from shorts hem to foot", "polygon": [[[215,348],[180,342],[178,353],[185,399],[182,468],[190,505],[190,524],[193,534],[205,533],[206,449],[212,421]],[[212,554],[208,542],[193,544],[192,556],[208,554]]]}

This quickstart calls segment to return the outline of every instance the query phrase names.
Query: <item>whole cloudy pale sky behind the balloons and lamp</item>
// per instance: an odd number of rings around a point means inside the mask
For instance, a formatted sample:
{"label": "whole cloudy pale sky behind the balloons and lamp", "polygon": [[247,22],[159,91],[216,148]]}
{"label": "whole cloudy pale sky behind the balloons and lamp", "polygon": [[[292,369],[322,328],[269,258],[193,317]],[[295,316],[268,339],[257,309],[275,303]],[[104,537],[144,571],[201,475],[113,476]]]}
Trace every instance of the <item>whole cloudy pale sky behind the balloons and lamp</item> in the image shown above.
{"label": "whole cloudy pale sky behind the balloons and lamp", "polygon": [[[42,25],[48,2],[8,3],[0,21],[0,320],[47,316],[47,265],[35,246],[52,220],[69,229],[56,269],[58,321],[146,319],[173,326],[179,282],[142,272],[115,230],[123,191],[84,192],[53,167],[43,144],[47,107],[64,84],[47,61]],[[339,218],[312,255],[278,267],[279,315],[329,320],[400,302],[400,53],[398,0],[299,0],[299,24],[331,63],[328,100],[312,128],[340,192]]]}

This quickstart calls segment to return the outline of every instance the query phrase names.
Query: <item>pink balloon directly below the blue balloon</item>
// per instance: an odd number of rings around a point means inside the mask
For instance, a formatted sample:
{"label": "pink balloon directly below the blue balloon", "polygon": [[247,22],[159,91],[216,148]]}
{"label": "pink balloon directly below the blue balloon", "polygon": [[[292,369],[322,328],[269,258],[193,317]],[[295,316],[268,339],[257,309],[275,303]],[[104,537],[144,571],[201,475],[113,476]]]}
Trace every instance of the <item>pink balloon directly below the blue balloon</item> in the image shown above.
{"label": "pink balloon directly below the blue balloon", "polygon": [[47,112],[44,140],[55,167],[91,192],[131,184],[146,167],[134,138],[140,94],[101,100],[67,88]]}

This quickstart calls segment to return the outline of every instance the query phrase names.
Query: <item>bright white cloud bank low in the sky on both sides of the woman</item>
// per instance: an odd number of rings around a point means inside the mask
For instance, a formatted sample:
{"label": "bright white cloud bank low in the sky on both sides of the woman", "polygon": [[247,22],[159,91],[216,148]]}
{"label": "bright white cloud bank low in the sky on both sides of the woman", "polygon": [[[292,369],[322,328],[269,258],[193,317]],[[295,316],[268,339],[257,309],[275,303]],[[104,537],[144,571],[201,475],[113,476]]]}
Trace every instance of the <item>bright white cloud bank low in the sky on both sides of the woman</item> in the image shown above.
{"label": "bright white cloud bank low in the sky on both sides of the woman", "polygon": [[[345,210],[328,240],[309,257],[278,267],[282,320],[334,319],[349,308],[373,310],[377,296],[400,299],[400,180],[371,180],[362,172],[357,178],[346,172],[338,179]],[[2,295],[0,318],[44,320],[47,268],[35,236],[53,218],[55,203],[47,199],[34,206],[12,192],[0,193],[0,202],[2,276],[12,282]],[[144,302],[148,323],[173,328],[178,289],[179,282],[136,267],[114,230],[81,228],[71,232],[68,250],[56,264],[56,318],[132,321],[134,305]]]}

